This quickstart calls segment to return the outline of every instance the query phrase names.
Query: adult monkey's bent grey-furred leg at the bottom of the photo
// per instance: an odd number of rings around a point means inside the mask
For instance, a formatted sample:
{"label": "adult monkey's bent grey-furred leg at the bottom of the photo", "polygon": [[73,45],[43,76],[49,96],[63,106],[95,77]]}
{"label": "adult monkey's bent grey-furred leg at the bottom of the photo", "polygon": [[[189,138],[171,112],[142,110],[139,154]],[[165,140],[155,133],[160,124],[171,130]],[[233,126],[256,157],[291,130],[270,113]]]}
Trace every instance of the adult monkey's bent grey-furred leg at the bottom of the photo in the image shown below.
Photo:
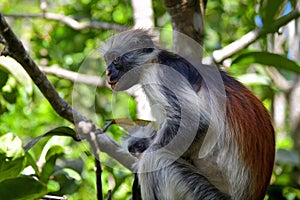
{"label": "adult monkey's bent grey-furred leg at the bottom of the photo", "polygon": [[[209,170],[209,169],[207,169]],[[194,166],[167,151],[145,153],[139,163],[143,199],[223,200],[220,192]]]}

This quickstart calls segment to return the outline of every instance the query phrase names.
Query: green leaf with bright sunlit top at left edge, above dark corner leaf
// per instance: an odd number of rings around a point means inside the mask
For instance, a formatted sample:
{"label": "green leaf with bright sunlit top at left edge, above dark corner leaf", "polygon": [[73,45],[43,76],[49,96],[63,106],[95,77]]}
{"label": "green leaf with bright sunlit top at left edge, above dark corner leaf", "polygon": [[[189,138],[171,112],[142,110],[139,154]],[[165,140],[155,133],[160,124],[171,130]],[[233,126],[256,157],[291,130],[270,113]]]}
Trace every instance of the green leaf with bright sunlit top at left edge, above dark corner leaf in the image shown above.
{"label": "green leaf with bright sunlit top at left edge, above dark corner leaf", "polygon": [[12,133],[0,137],[0,181],[16,177],[24,169],[26,158],[22,142]]}

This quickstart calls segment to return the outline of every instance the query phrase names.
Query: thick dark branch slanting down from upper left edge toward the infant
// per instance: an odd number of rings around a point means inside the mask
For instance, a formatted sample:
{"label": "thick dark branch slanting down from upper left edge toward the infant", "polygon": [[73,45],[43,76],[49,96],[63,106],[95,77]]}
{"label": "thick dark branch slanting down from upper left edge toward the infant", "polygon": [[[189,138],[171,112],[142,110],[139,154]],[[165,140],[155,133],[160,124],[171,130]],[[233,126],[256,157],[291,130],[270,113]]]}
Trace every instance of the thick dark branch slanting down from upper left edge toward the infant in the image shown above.
{"label": "thick dark branch slanting down from upper left edge toward the infant", "polygon": [[90,134],[87,134],[87,132],[85,133],[84,136],[86,136],[88,141],[93,142],[91,143],[91,146],[99,146],[103,152],[106,152],[111,157],[118,160],[128,169],[132,169],[132,164],[136,159],[129,153],[121,151],[121,147],[118,143],[116,143],[108,135],[104,134],[100,128],[81,115],[78,111],[74,110],[69,103],[59,96],[58,92],[49,82],[46,75],[39,69],[36,63],[26,52],[22,42],[11,30],[2,13],[0,13],[0,34],[5,39],[7,47],[6,52],[8,52],[12,58],[22,65],[56,113],[73,123],[77,128],[80,128],[80,124],[82,124],[82,122],[89,122],[92,125],[91,131],[97,135],[96,141],[94,141],[91,139]]}

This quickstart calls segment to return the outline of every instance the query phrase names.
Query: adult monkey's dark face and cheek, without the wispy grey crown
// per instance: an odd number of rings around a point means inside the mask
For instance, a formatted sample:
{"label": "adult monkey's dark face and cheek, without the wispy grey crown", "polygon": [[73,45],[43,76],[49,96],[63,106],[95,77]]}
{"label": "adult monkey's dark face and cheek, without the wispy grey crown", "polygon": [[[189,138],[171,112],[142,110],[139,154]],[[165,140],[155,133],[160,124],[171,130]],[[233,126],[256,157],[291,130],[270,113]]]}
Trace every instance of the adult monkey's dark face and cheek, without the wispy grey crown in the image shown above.
{"label": "adult monkey's dark face and cheek, without the wispy grey crown", "polygon": [[145,64],[155,57],[154,48],[134,49],[123,54],[110,51],[105,54],[106,76],[112,89],[126,90],[139,83]]}

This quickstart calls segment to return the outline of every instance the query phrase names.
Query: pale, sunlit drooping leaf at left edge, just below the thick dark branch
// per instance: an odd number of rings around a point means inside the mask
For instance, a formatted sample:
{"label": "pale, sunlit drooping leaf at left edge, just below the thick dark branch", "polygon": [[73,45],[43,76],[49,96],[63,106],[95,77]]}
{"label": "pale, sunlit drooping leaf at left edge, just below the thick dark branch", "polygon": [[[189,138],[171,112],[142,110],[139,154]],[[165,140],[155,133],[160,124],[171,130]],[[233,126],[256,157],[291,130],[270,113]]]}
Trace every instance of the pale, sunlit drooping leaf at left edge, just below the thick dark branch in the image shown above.
{"label": "pale, sunlit drooping leaf at left edge, just below the thick dark branch", "polygon": [[32,81],[23,67],[13,58],[0,56],[0,69],[12,74],[19,83],[25,86],[28,93],[32,93]]}

